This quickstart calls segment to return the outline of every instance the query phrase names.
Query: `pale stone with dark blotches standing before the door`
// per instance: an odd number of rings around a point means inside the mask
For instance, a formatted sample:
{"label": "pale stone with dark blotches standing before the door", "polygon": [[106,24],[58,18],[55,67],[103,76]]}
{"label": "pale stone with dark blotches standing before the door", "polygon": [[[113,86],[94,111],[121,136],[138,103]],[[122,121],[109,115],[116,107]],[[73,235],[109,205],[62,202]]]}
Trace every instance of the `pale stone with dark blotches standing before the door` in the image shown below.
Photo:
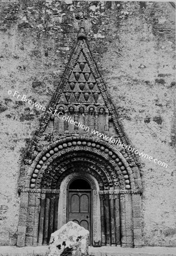
{"label": "pale stone with dark blotches standing before the door", "polygon": [[51,234],[48,256],[87,256],[89,231],[69,221]]}

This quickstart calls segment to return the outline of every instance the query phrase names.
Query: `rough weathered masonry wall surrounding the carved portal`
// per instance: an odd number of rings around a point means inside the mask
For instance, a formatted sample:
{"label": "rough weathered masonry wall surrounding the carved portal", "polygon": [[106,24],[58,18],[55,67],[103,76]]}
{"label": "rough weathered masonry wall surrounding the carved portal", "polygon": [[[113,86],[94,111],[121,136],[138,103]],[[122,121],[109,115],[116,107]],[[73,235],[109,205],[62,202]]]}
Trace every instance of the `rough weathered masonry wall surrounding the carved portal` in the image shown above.
{"label": "rough weathered masonry wall surrounding the carved portal", "polygon": [[[141,158],[143,243],[176,246],[175,23],[166,2],[1,1],[1,245],[16,244],[20,164],[85,18],[91,52],[133,146],[168,164]],[[7,91],[12,94],[8,95]]]}

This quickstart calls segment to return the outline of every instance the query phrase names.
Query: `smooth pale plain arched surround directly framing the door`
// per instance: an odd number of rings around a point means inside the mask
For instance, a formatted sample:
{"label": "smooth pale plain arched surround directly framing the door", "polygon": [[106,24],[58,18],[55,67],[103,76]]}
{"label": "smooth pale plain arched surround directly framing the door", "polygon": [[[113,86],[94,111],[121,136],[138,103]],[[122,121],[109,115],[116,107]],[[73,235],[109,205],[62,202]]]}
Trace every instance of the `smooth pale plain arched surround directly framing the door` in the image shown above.
{"label": "smooth pale plain arched surround directly framing the door", "polygon": [[58,228],[66,223],[66,196],[67,188],[70,183],[75,178],[86,179],[91,184],[91,196],[93,201],[93,241],[101,241],[101,222],[100,222],[100,199],[99,199],[99,185],[95,177],[91,174],[81,175],[79,172],[74,172],[66,176],[61,183],[60,187],[60,199],[58,201],[58,208],[62,209],[58,213]]}

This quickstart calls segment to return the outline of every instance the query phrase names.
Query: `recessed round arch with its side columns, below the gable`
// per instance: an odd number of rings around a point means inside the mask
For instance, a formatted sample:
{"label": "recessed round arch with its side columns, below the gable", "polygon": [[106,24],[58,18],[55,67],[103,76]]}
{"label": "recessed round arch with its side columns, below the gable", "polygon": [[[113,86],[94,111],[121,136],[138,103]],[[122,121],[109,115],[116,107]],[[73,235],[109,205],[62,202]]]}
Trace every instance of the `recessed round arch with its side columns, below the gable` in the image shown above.
{"label": "recessed round arch with its side columns, below the gable", "polygon": [[25,245],[47,244],[51,233],[65,223],[66,208],[60,210],[66,196],[62,186],[74,175],[87,176],[94,184],[100,216],[98,220],[94,214],[94,220],[100,226],[93,224],[93,240],[102,245],[137,245],[135,237],[141,236],[138,168],[131,167],[110,143],[81,136],[55,141],[33,160],[21,191],[20,211],[25,213],[19,220],[18,241],[23,237]]}

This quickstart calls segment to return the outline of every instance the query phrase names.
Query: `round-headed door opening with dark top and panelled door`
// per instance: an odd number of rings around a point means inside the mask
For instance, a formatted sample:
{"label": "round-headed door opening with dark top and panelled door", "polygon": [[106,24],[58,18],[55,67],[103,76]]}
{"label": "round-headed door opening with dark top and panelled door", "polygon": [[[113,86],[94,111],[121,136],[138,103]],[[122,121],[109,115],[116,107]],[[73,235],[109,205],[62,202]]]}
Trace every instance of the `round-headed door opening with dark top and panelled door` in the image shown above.
{"label": "round-headed door opening with dark top and panelled door", "polygon": [[84,179],[75,179],[68,186],[67,221],[89,230],[91,244],[91,187]]}

